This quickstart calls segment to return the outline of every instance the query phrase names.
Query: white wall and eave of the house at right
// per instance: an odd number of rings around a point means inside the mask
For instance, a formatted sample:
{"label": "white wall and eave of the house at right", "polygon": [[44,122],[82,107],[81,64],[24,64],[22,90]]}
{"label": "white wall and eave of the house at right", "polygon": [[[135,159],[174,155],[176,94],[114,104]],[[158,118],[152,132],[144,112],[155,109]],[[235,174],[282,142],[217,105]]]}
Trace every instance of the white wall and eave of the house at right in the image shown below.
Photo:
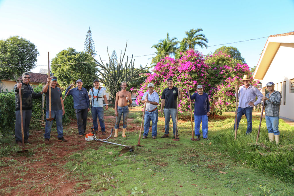
{"label": "white wall and eave of the house at right", "polygon": [[262,87],[265,87],[266,83],[270,81],[275,83],[275,90],[280,91],[282,94],[280,117],[288,118],[289,120],[294,121],[294,93],[290,93],[290,81],[293,78],[294,43],[281,43],[277,53],[270,63],[268,71],[265,73]]}

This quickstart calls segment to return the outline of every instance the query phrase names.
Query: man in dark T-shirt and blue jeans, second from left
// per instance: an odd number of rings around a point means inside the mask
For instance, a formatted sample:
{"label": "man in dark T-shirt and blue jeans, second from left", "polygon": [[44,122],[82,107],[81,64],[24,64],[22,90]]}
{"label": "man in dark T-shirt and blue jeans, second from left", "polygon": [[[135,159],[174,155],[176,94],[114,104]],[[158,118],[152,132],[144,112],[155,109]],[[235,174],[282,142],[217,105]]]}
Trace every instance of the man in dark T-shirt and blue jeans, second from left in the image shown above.
{"label": "man in dark T-shirt and blue jeans, second from left", "polygon": [[[46,118],[49,118],[49,82],[51,84],[51,118],[56,121],[56,129],[59,142],[67,142],[63,137],[62,116],[64,115],[64,105],[62,100],[61,89],[56,86],[57,77],[47,78],[47,83],[43,87],[43,92],[46,95]],[[44,143],[49,144],[50,132],[53,120],[46,120]]]}

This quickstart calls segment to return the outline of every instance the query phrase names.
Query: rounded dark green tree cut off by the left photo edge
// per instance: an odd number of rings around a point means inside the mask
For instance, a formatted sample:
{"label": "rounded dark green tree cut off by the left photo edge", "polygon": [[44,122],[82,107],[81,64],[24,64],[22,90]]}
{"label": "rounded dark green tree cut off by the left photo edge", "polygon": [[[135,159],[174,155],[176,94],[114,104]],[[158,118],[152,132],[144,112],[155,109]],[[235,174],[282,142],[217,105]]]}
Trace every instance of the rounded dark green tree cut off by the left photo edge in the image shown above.
{"label": "rounded dark green tree cut off by the left photo edge", "polygon": [[39,52],[34,43],[11,36],[0,40],[0,79],[18,78],[23,72],[36,67]]}

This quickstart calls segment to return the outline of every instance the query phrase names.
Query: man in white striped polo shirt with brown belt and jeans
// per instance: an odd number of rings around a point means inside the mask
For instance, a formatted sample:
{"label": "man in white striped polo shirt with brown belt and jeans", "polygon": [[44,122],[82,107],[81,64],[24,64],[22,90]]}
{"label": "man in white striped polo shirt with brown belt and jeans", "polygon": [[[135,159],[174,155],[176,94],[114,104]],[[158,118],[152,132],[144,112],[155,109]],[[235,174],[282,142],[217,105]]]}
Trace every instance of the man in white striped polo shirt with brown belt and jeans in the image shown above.
{"label": "man in white striped polo shirt with brown belt and jeans", "polygon": [[144,133],[143,139],[147,138],[150,120],[152,120],[152,139],[156,139],[157,135],[157,120],[158,120],[158,110],[157,105],[159,103],[159,96],[154,91],[154,85],[152,83],[148,84],[148,91],[144,93],[141,102],[146,103],[146,110],[144,116]]}

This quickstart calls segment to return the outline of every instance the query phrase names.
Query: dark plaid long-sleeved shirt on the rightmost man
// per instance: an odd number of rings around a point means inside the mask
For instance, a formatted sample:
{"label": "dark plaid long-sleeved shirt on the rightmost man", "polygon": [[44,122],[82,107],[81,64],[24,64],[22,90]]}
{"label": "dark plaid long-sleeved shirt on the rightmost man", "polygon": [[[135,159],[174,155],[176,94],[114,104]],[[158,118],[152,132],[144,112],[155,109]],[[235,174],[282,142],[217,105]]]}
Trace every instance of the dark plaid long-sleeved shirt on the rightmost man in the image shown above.
{"label": "dark plaid long-sleeved shirt on the rightmost man", "polygon": [[271,96],[270,93],[265,95],[266,98],[270,100],[265,101],[265,115],[279,117],[280,116],[280,102],[281,102],[281,93],[279,91],[274,91]]}

